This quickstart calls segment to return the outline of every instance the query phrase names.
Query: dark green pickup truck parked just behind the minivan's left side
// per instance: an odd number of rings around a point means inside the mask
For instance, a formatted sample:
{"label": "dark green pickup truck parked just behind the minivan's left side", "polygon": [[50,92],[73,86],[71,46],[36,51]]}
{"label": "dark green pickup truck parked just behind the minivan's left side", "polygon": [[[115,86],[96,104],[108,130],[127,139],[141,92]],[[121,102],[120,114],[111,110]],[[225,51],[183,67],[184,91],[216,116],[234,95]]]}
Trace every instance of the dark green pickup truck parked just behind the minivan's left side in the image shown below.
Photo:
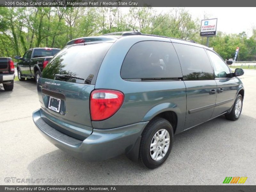
{"label": "dark green pickup truck parked just behind the minivan's left side", "polygon": [[37,83],[49,60],[59,51],[60,49],[57,48],[32,48],[25,52],[23,57],[15,56],[15,59],[20,60],[17,63],[19,80],[24,81],[25,78],[35,78]]}

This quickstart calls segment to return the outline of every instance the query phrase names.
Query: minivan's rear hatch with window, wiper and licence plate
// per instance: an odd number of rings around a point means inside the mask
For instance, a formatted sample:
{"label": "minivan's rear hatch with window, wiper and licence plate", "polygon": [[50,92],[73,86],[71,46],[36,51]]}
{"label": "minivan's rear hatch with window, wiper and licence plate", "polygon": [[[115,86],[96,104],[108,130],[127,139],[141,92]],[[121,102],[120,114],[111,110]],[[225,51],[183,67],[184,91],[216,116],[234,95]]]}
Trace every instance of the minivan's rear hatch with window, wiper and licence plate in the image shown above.
{"label": "minivan's rear hatch with window, wiper and licence plate", "polygon": [[79,136],[73,132],[92,131],[90,94],[101,62],[112,44],[68,46],[52,58],[37,86],[46,123],[51,122],[53,127],[56,124],[60,132],[68,130],[75,138]]}

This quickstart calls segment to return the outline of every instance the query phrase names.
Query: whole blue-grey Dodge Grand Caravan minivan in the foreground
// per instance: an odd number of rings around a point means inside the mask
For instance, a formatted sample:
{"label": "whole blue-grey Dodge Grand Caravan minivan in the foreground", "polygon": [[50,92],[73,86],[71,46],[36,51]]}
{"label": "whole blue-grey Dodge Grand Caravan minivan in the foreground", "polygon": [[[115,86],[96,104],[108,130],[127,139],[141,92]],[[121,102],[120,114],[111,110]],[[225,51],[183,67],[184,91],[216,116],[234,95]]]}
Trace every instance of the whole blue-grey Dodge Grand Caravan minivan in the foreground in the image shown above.
{"label": "whole blue-grey Dodge Grand Caravan minivan in the foreground", "polygon": [[74,39],[39,78],[33,120],[78,158],[125,153],[156,168],[174,134],[223,114],[239,118],[244,87],[236,76],[243,73],[191,41],[137,31]]}

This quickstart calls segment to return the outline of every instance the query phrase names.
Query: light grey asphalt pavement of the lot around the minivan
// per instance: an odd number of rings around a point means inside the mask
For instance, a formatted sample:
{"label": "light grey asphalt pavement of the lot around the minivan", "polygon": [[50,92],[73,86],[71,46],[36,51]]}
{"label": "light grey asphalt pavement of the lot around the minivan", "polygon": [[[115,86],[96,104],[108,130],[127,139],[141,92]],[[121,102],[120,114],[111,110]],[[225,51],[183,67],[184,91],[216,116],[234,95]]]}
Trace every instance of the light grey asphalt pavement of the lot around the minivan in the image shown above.
{"label": "light grey asphalt pavement of the lot around the minivan", "polygon": [[[35,82],[16,81],[12,92],[0,84],[0,185],[222,185],[226,177],[248,177],[244,185],[255,185],[256,70],[245,70],[241,80],[245,98],[239,120],[220,116],[175,135],[169,158],[155,170],[125,155],[88,163],[66,154],[33,123],[32,112],[40,107]],[[21,183],[6,183],[11,177]]]}

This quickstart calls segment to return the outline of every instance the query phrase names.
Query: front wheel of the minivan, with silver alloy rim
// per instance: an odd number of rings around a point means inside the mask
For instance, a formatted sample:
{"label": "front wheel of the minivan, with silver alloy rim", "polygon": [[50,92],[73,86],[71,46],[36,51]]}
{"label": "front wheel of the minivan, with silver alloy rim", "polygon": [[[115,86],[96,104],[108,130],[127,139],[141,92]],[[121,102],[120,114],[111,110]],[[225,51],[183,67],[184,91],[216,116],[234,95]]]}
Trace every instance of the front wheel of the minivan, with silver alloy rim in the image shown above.
{"label": "front wheel of the minivan, with silver alloy rim", "polygon": [[238,94],[231,112],[225,115],[226,119],[231,121],[236,121],[240,117],[242,108],[243,108],[243,97],[242,95]]}

